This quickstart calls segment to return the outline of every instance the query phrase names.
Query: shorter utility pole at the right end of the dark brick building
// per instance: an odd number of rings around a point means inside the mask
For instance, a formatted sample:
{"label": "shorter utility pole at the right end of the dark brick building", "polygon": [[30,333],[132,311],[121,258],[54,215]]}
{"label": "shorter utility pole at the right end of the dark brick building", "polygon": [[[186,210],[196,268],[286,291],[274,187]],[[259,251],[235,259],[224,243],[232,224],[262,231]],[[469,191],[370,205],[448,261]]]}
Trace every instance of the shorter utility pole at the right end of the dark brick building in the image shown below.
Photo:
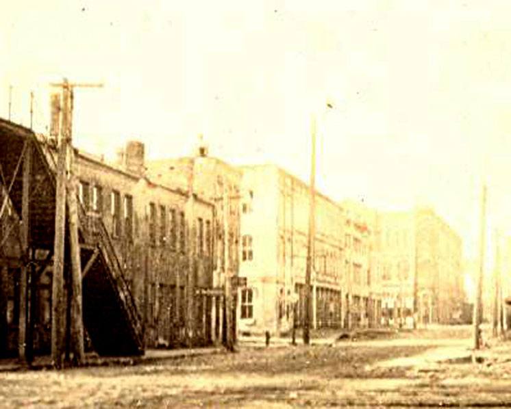
{"label": "shorter utility pole at the right end of the dark brick building", "polygon": [[227,334],[225,347],[228,351],[234,351],[233,326],[232,326],[232,274],[231,263],[229,259],[229,198],[227,192],[227,178],[223,179],[223,259],[224,259],[224,277],[225,277],[225,328]]}

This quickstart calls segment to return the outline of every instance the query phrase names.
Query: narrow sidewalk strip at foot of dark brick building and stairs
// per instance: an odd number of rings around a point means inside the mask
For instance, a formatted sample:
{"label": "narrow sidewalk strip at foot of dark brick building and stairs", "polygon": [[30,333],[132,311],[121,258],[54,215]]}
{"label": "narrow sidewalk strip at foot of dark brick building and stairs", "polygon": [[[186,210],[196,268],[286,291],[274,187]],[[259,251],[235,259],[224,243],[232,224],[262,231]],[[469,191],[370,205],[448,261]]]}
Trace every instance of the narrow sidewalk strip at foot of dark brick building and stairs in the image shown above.
{"label": "narrow sidewalk strip at foot of dark brick building and stairs", "polygon": [[[182,349],[147,349],[142,356],[97,356],[86,354],[83,367],[104,367],[112,365],[132,366],[142,365],[162,360],[191,358],[192,356],[220,354],[225,351],[223,347],[182,348]],[[0,372],[23,371],[27,369],[52,369],[50,356],[36,356],[30,367],[25,367],[17,358],[0,359]]]}

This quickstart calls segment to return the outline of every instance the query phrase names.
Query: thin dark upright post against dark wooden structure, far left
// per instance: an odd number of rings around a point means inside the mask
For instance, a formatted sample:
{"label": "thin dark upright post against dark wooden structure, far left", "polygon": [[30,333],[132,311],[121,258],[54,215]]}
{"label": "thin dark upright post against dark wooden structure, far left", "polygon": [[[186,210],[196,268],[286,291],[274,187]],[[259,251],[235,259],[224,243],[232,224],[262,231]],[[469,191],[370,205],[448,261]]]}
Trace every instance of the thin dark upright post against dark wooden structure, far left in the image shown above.
{"label": "thin dark upright post against dark wooden structure, far left", "polygon": [[24,364],[29,363],[27,356],[28,334],[28,270],[29,270],[29,217],[30,217],[30,177],[32,174],[32,145],[25,142],[25,157],[23,158],[23,190],[21,198],[21,254],[23,254],[23,265],[21,266],[19,284],[19,323],[18,323],[18,356]]}

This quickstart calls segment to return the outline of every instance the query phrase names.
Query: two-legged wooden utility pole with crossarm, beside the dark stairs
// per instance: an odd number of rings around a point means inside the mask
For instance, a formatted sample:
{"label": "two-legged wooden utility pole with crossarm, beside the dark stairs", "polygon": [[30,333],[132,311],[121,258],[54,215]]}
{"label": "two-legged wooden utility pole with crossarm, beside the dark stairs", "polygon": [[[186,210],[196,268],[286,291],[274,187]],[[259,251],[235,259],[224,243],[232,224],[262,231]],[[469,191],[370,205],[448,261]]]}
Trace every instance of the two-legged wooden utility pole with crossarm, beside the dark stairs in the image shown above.
{"label": "two-legged wooden utility pole with crossarm, beside the dark stairs", "polygon": [[[58,147],[57,185],[55,194],[55,241],[53,248],[53,282],[51,315],[51,357],[56,368],[62,368],[66,344],[74,365],[84,361],[84,324],[82,313],[82,267],[78,242],[77,180],[73,172],[73,89],[101,88],[102,84],[52,83],[62,89],[62,126]],[[69,209],[69,243],[71,255],[71,286],[64,279],[66,202]],[[68,299],[68,291],[71,297]],[[67,313],[69,311],[69,313]],[[67,321],[67,317],[69,322]],[[66,342],[69,328],[69,342]]]}

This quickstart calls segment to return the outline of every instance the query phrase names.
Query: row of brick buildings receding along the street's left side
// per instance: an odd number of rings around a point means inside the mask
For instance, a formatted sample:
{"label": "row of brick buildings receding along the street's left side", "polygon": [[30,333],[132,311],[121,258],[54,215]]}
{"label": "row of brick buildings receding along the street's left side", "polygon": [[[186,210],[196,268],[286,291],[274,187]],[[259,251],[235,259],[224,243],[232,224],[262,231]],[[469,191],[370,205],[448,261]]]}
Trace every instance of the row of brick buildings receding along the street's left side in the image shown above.
{"label": "row of brick buildings receding along the street's left side", "polygon": [[[38,140],[51,157],[51,142]],[[234,333],[283,334],[303,324],[310,196],[297,177],[274,165],[231,166],[210,157],[202,142],[192,157],[160,161],[145,160],[140,142],[129,142],[116,163],[75,150],[75,174],[87,220],[108,230],[147,347],[225,340],[226,280],[234,288]],[[432,209],[379,212],[320,192],[315,202],[314,327],[456,317],[464,301],[461,241]],[[19,321],[23,257],[8,234],[19,217],[12,206],[2,217],[6,350],[16,344]],[[45,349],[51,263],[36,279],[34,342]]]}

